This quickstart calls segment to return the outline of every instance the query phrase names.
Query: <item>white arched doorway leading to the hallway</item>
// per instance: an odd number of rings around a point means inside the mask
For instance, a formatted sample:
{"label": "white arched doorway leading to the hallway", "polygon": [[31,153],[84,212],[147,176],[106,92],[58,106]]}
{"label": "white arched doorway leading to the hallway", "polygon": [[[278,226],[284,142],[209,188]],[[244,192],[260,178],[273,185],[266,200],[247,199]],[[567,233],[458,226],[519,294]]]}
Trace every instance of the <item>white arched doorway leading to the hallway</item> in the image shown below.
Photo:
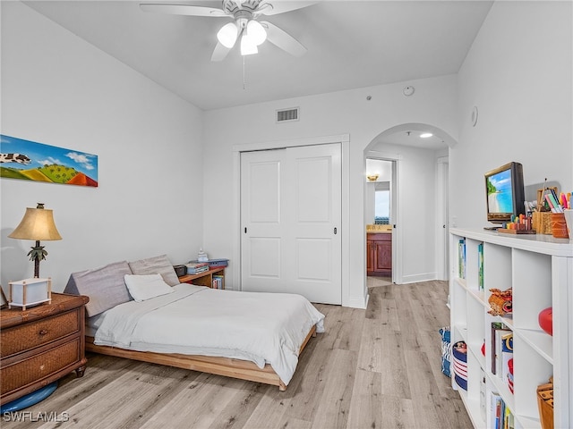
{"label": "white arched doorway leading to the hallway", "polygon": [[[426,133],[430,136],[422,137]],[[403,123],[382,131],[364,149],[364,176],[367,159],[393,165],[389,184],[392,282],[448,279],[448,156],[449,147],[456,143],[432,125]],[[367,207],[372,195],[368,183],[365,177],[365,230],[372,213]]]}

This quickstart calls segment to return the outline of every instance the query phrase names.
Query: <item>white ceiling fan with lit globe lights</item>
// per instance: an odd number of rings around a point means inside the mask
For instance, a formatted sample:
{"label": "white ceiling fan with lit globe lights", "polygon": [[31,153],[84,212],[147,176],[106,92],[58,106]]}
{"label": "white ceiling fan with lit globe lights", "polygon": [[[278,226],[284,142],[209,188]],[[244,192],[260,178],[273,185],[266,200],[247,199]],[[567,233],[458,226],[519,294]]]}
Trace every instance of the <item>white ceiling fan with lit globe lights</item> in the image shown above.
{"label": "white ceiling fan with lit globe lights", "polygon": [[315,4],[315,1],[280,1],[269,3],[267,0],[223,0],[222,9],[192,4],[147,4],[141,3],[144,12],[191,15],[213,18],[230,18],[217,33],[217,46],[211,55],[211,61],[222,61],[240,40],[241,55],[258,52],[257,46],[265,40],[295,56],[304,55],[306,47],[283,29],[269,21],[259,21],[261,15],[276,15]]}

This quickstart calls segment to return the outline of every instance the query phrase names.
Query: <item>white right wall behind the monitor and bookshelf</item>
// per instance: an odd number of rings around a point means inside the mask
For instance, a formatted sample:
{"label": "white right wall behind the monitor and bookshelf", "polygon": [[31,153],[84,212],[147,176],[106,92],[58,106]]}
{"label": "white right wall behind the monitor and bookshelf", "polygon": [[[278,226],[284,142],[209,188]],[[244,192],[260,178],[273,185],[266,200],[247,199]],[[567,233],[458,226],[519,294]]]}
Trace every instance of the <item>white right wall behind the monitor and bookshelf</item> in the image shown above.
{"label": "white right wall behind the monitor and bookshelf", "polygon": [[493,4],[458,74],[451,223],[487,224],[483,173],[509,161],[523,164],[526,189],[541,188],[547,178],[573,190],[571,9],[571,2]]}

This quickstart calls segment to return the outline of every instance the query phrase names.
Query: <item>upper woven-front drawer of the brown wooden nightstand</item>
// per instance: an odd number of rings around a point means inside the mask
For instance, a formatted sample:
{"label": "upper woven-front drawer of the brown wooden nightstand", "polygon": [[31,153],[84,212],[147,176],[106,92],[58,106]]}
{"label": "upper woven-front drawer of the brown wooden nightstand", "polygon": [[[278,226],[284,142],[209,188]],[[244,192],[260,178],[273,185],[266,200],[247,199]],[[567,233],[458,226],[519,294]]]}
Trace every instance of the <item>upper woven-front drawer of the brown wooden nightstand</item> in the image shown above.
{"label": "upper woven-front drawer of the brown wooden nightstand", "polygon": [[0,332],[0,343],[2,344],[0,356],[8,357],[55,341],[73,332],[79,332],[80,323],[80,312],[73,310],[29,324],[3,329]]}

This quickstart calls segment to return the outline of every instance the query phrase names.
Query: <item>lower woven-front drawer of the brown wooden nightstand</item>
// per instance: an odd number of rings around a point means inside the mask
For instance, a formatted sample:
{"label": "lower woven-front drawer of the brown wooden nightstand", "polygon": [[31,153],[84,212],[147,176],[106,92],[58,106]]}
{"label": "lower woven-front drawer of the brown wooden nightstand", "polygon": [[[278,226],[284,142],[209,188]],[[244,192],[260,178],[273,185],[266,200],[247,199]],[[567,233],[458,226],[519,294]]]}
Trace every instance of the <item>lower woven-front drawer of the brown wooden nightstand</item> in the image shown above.
{"label": "lower woven-front drawer of the brown wooden nightstand", "polygon": [[0,370],[1,393],[4,395],[6,392],[16,391],[28,384],[38,383],[39,380],[80,361],[80,354],[80,339],[75,338],[54,349],[5,366]]}

